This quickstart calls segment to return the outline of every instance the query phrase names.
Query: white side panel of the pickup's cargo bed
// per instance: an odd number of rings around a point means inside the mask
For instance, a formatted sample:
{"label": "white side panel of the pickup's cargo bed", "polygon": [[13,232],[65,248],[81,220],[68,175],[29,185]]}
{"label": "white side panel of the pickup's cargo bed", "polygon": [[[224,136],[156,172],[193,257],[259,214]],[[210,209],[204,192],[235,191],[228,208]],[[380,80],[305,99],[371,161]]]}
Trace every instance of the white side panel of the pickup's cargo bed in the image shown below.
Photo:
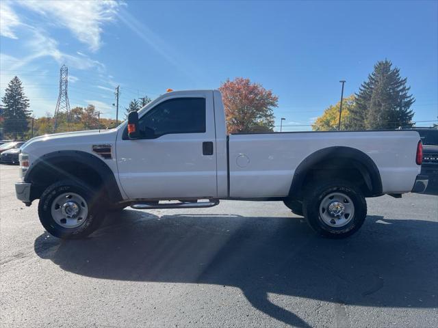
{"label": "white side panel of the pickup's cargo bed", "polygon": [[363,152],[378,167],[383,193],[406,193],[420,174],[420,166],[415,164],[419,139],[415,131],[231,134],[229,195],[284,197],[298,165],[324,148]]}

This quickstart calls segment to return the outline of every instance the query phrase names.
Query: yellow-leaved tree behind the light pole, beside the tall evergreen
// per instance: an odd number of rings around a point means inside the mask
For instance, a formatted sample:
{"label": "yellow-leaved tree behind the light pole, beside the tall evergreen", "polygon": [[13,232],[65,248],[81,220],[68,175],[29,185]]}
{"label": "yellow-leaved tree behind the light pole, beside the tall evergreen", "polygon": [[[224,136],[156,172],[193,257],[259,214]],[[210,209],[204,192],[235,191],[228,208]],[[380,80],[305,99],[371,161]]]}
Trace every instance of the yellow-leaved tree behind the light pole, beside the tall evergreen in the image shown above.
{"label": "yellow-leaved tree behind the light pole, beside the tall evergreen", "polygon": [[[312,124],[313,131],[336,131],[339,122],[339,107],[341,102],[336,105],[331,105],[324,110],[324,113],[315,120]],[[346,124],[349,120],[350,111],[356,106],[355,95],[352,94],[342,101],[342,116],[341,116],[341,130],[346,130]]]}

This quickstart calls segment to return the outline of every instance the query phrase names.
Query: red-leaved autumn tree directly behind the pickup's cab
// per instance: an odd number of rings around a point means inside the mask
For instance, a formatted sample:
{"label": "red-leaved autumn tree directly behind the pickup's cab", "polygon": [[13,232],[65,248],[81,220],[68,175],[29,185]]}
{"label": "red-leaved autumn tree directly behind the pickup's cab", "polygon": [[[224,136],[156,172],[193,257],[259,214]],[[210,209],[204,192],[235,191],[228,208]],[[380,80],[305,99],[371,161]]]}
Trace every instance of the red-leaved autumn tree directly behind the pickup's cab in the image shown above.
{"label": "red-leaved autumn tree directly behind the pickup's cab", "polygon": [[227,133],[274,130],[274,111],[279,97],[258,83],[237,77],[219,87],[225,107]]}

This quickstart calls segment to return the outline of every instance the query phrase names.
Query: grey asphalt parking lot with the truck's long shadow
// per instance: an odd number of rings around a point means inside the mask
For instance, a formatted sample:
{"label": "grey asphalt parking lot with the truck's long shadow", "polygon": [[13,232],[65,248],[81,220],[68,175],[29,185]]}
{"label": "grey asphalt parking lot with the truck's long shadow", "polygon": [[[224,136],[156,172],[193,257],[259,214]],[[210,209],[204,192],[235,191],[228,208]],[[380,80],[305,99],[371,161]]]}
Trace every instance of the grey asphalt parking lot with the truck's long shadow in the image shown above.
{"label": "grey asphalt parking lot with the truck's long shadow", "polygon": [[0,165],[1,327],[437,327],[438,197],[368,200],[354,236],[315,236],[280,202],[108,215],[44,232]]}

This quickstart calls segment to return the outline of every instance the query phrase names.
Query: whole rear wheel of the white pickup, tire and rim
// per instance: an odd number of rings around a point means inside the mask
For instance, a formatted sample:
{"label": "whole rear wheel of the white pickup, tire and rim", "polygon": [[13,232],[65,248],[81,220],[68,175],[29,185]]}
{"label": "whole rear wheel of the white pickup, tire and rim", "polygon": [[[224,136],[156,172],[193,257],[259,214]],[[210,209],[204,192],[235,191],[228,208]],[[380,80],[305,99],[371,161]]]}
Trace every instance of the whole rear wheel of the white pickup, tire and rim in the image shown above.
{"label": "whole rear wheel of the white pickup, tire and rim", "polygon": [[361,228],[367,215],[361,189],[344,180],[312,184],[302,208],[311,228],[331,238],[351,236]]}

